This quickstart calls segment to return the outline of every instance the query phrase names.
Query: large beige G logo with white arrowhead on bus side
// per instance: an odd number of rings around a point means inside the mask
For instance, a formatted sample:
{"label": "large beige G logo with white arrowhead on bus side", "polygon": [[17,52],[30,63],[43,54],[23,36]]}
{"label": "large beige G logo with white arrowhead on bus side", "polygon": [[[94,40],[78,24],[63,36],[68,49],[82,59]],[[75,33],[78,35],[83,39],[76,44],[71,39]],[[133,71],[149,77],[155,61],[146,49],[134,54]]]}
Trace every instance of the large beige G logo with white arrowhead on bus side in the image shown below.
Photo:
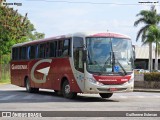
{"label": "large beige G logo with white arrowhead on bus side", "polygon": [[42,80],[39,80],[39,79],[35,78],[35,76],[34,76],[34,71],[35,71],[36,67],[37,67],[39,64],[45,63],[45,62],[51,63],[51,62],[52,62],[52,59],[40,60],[40,61],[38,61],[36,64],[34,64],[33,67],[32,67],[32,69],[31,69],[31,79],[32,79],[35,83],[45,83],[45,82],[46,82],[46,78],[47,78],[47,75],[48,75],[48,73],[49,73],[50,66],[49,66],[49,67],[46,67],[46,68],[42,68],[42,69],[37,70],[37,72],[42,73],[42,74],[44,75]]}

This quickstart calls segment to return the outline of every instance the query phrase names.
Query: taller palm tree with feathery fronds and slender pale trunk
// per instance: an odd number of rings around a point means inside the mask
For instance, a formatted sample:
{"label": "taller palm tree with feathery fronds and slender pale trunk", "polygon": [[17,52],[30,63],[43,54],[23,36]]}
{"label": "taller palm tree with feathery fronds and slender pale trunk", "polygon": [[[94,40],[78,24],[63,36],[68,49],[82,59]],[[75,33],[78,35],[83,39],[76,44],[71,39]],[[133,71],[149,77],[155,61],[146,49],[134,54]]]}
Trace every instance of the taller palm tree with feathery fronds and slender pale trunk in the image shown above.
{"label": "taller palm tree with feathery fronds and slender pale trunk", "polygon": [[157,14],[156,10],[154,9],[154,6],[151,8],[151,10],[142,10],[140,11],[137,16],[140,16],[138,20],[134,22],[134,26],[137,27],[139,24],[143,23],[144,26],[140,28],[140,30],[137,33],[136,41],[141,36],[141,41],[143,43],[149,44],[149,70],[152,71],[152,43],[153,40],[147,40],[146,35],[149,30],[149,27],[152,25],[157,25],[160,22],[160,15]]}

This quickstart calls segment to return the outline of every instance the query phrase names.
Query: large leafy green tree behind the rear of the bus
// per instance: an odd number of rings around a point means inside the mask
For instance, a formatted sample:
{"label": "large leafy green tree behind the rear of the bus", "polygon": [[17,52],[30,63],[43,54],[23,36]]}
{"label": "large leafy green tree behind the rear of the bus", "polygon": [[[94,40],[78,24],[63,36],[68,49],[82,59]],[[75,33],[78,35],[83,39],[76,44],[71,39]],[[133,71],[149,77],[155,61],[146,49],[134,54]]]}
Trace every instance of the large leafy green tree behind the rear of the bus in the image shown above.
{"label": "large leafy green tree behind the rear of the bus", "polygon": [[11,52],[11,46],[17,43],[44,38],[44,33],[38,33],[29,21],[27,13],[22,16],[18,10],[1,5],[0,0],[0,79],[1,58]]}

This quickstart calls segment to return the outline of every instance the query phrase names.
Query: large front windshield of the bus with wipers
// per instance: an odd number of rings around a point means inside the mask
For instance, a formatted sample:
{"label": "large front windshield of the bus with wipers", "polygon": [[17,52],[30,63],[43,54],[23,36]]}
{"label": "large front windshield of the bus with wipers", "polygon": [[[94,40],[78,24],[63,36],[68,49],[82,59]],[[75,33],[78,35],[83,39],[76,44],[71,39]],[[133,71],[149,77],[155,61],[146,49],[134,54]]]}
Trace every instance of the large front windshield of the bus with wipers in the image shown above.
{"label": "large front windshield of the bus with wipers", "polygon": [[88,37],[87,70],[91,73],[124,73],[133,69],[131,40],[123,38]]}

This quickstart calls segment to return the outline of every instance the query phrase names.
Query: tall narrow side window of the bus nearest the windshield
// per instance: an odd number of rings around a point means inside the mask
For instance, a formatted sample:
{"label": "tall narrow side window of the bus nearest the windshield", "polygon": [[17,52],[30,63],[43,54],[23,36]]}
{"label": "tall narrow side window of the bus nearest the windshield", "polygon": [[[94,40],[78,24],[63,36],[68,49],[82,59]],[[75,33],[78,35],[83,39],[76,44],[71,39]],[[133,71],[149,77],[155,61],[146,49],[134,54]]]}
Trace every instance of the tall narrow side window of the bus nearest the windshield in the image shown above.
{"label": "tall narrow side window of the bus nearest the windshield", "polygon": [[83,50],[83,38],[74,37],[73,38],[74,66],[78,71],[84,72],[84,66],[82,62],[82,50]]}

